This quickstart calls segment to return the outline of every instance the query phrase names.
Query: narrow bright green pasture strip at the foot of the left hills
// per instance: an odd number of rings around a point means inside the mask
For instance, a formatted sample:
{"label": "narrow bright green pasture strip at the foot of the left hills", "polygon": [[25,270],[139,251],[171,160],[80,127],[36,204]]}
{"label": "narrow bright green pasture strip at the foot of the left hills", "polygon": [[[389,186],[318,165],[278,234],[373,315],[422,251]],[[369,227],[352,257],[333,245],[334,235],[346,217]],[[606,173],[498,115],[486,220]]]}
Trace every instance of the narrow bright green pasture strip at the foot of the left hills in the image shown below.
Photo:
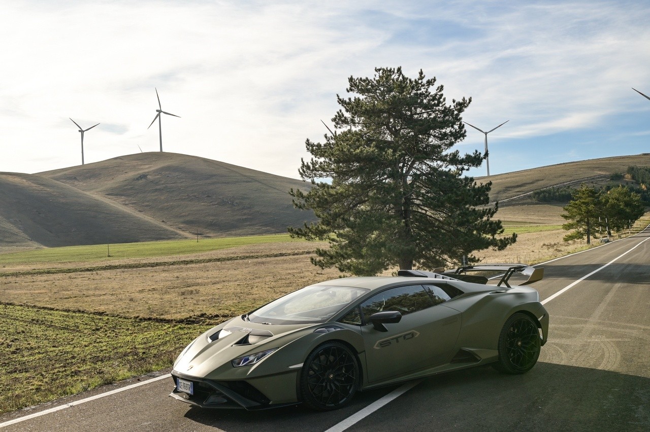
{"label": "narrow bright green pasture strip at the foot of the left hills", "polygon": [[[107,261],[125,258],[153,258],[209,252],[211,250],[259,243],[304,241],[292,239],[289,234],[247,235],[216,239],[181,239],[116,243],[105,245],[63,246],[14,252],[0,255],[0,265],[19,263],[63,263],[78,261]],[[110,255],[110,256],[109,256]]]}

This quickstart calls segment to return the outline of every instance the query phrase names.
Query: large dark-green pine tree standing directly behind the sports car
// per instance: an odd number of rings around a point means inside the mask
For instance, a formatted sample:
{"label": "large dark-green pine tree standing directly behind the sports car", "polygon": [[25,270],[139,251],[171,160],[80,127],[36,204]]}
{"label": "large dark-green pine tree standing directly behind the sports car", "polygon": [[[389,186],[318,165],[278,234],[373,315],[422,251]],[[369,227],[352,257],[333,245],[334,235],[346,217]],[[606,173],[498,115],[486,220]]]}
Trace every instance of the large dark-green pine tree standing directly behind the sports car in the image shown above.
{"label": "large dark-green pine tree standing directly behind the sports car", "polygon": [[[491,183],[463,173],[485,154],[461,155],[461,114],[471,99],[447,104],[435,78],[403,75],[400,67],[377,68],[372,78],[348,79],[347,99],[332,121],[341,130],[324,143],[307,139],[312,158],[302,161],[308,192],[293,190],[294,205],[313,210],[315,224],[290,228],[295,237],[326,240],[312,262],[352,274],[377,274],[398,265],[432,269],[477,262],[472,252],[503,249],[502,224],[489,206]],[[330,179],[327,181],[326,179]]]}

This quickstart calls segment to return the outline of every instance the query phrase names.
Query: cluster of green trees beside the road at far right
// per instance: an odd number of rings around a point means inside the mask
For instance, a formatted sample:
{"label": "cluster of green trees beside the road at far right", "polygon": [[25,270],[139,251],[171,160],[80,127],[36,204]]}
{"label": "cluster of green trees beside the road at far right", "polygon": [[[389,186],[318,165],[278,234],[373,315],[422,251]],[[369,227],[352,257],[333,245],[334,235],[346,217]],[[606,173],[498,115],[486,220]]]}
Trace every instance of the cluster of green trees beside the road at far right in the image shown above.
{"label": "cluster of green trees beside the road at far right", "polygon": [[573,230],[564,236],[564,241],[587,237],[589,245],[593,230],[599,224],[616,232],[625,230],[643,216],[645,204],[638,193],[624,186],[603,191],[582,185],[575,190],[564,211],[562,217],[569,222],[562,228]]}

